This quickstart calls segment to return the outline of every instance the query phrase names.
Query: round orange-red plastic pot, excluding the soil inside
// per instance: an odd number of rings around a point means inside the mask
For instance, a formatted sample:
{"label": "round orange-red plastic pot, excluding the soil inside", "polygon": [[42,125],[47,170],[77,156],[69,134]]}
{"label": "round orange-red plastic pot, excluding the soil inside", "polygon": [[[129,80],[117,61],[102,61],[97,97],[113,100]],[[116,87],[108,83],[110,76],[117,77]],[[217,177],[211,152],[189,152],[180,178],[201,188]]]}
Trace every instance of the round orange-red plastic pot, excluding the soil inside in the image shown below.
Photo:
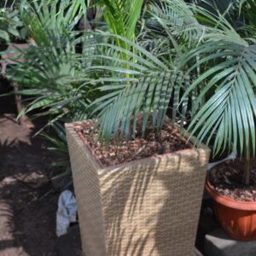
{"label": "round orange-red plastic pot, excluding the soil inside", "polygon": [[206,189],[212,197],[215,215],[226,233],[241,241],[256,240],[256,202],[235,201],[219,195],[208,178]]}

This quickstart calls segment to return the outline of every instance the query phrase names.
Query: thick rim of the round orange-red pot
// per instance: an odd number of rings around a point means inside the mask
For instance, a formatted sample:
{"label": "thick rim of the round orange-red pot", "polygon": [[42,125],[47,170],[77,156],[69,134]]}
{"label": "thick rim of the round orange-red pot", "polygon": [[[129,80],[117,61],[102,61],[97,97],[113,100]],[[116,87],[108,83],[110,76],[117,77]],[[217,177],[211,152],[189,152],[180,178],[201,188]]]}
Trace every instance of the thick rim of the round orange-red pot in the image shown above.
{"label": "thick rim of the round orange-red pot", "polygon": [[236,201],[234,199],[231,199],[230,197],[220,195],[209,182],[208,176],[206,182],[206,189],[207,192],[212,196],[212,199],[214,201],[217,201],[219,204],[244,211],[256,211],[256,201]]}

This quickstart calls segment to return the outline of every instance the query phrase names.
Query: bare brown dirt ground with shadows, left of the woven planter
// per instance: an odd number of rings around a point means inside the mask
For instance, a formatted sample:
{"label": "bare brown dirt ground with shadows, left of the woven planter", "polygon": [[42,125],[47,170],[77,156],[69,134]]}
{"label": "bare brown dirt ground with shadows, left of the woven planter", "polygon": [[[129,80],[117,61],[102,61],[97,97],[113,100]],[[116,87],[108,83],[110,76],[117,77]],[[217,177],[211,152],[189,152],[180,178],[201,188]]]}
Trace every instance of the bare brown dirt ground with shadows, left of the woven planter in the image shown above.
{"label": "bare brown dirt ground with shadows, left of the woven planter", "polygon": [[60,191],[46,182],[54,156],[40,137],[32,138],[40,125],[19,125],[12,104],[0,98],[0,255],[57,255]]}

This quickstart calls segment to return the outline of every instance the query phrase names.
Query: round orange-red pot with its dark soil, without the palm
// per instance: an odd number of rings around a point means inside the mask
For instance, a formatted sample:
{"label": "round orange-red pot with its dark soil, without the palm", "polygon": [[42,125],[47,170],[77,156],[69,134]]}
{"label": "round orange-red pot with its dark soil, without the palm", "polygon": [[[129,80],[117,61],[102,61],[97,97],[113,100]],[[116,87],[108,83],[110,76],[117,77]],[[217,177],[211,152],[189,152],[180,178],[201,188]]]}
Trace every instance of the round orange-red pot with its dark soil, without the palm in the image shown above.
{"label": "round orange-red pot with its dark soil, without the palm", "polygon": [[219,223],[231,237],[241,241],[256,240],[256,165],[251,183],[242,183],[244,162],[228,161],[208,175],[207,191],[212,196]]}

